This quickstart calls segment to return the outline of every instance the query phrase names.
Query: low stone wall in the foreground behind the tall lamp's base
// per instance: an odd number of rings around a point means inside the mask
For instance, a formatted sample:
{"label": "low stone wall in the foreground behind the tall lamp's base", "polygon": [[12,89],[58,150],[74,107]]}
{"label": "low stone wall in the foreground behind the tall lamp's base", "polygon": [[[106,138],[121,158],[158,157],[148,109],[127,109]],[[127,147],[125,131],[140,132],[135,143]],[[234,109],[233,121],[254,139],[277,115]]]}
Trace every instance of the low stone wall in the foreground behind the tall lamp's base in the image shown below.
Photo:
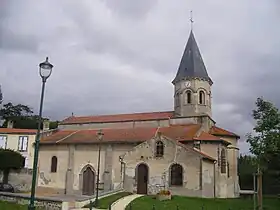
{"label": "low stone wall in the foreground behind the tall lamp's base", "polygon": [[[0,192],[0,200],[13,202],[21,205],[28,205],[29,196]],[[61,210],[63,208],[63,202],[60,200],[37,198],[35,201],[35,206],[45,210]]]}

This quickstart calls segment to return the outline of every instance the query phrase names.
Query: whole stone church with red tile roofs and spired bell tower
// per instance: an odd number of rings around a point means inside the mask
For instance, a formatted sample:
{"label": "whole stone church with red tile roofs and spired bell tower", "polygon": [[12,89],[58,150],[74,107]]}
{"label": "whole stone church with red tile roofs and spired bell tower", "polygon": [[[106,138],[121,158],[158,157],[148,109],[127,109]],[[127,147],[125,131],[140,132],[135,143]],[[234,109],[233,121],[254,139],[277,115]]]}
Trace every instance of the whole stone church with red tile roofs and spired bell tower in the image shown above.
{"label": "whole stone church with red tile roofs and spired bell tower", "polygon": [[100,145],[99,188],[105,191],[155,194],[168,189],[185,196],[238,197],[239,136],[216,126],[211,117],[213,81],[193,31],[172,83],[173,111],[63,120],[41,139],[38,187],[93,195]]}

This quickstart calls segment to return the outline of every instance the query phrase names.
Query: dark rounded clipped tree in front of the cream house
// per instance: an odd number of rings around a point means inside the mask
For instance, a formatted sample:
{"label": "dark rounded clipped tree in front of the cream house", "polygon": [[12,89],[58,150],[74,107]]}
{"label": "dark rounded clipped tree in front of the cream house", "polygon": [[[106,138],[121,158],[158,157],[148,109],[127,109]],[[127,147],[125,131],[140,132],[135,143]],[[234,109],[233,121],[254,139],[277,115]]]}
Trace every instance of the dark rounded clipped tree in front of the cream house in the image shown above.
{"label": "dark rounded clipped tree in front of the cream house", "polygon": [[0,171],[3,172],[2,182],[7,184],[10,171],[23,168],[25,158],[19,152],[0,148],[0,160]]}

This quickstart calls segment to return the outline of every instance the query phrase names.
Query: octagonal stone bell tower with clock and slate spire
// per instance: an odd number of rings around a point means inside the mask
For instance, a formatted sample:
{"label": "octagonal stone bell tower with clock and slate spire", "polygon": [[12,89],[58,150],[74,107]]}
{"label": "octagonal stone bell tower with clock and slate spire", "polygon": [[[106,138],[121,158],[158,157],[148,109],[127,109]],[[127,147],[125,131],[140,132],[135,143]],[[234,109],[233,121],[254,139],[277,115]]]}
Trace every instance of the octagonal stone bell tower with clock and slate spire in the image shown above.
{"label": "octagonal stone bell tower with clock and slate spire", "polygon": [[176,117],[208,115],[211,117],[211,86],[206,67],[196,43],[193,30],[185,47],[174,85]]}

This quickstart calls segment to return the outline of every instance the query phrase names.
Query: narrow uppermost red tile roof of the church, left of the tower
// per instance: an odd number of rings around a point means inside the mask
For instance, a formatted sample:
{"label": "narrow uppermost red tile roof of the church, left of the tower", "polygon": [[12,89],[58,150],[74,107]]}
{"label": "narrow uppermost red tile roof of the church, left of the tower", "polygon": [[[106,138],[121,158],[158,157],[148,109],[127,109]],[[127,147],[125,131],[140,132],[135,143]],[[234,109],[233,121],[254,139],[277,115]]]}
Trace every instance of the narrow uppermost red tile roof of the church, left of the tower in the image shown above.
{"label": "narrow uppermost red tile roof of the church, left of the tower", "polygon": [[60,124],[79,124],[79,123],[108,123],[124,121],[144,121],[144,120],[163,120],[173,117],[173,111],[167,112],[146,112],[133,114],[116,114],[116,115],[97,115],[84,117],[68,117]]}

